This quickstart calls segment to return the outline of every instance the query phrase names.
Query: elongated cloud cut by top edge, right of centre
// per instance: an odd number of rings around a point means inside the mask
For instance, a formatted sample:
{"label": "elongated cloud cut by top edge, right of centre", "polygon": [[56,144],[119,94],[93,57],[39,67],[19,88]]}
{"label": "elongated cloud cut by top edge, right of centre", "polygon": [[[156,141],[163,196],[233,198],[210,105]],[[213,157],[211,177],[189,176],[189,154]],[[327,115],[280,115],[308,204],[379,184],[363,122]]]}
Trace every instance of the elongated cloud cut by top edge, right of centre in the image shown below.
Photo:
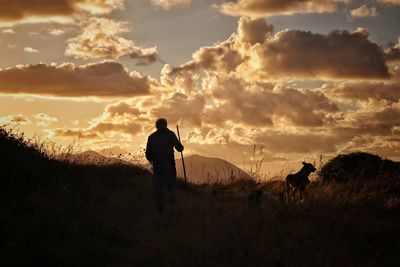
{"label": "elongated cloud cut by top edge, right of centre", "polygon": [[219,6],[222,13],[230,16],[266,17],[296,13],[325,13],[337,10],[332,0],[236,0]]}

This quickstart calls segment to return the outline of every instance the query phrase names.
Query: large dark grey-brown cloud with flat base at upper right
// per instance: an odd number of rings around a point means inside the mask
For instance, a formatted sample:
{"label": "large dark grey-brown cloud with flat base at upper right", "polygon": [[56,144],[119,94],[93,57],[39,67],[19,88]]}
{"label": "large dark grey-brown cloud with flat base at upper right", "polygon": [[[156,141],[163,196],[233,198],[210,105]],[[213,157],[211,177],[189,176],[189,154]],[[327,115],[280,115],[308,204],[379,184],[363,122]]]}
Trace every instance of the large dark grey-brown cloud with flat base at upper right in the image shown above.
{"label": "large dark grey-brown cloud with flat base at upper right", "polygon": [[328,35],[284,30],[267,40],[260,51],[265,75],[337,79],[389,78],[380,47],[368,32],[332,31]]}

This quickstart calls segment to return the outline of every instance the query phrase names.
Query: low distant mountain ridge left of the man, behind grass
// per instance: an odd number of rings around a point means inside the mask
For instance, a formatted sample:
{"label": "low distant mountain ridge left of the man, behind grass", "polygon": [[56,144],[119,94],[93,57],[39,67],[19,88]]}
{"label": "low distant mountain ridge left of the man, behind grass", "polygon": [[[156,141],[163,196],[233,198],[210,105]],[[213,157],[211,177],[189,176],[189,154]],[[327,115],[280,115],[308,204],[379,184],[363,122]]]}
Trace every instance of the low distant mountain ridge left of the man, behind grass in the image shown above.
{"label": "low distant mountain ridge left of the man, behind grass", "polygon": [[125,161],[122,159],[115,157],[105,157],[93,150],[88,150],[78,154],[61,154],[60,158],[80,164],[110,165],[116,163],[125,163]]}

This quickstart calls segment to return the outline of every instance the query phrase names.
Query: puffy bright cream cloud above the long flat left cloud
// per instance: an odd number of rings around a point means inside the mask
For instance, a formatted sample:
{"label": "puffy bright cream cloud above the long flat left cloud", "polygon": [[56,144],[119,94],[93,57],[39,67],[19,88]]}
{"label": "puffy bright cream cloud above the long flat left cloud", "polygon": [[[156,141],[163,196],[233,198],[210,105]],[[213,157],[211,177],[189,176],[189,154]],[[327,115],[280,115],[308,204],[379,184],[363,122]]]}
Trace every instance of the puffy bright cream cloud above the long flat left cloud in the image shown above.
{"label": "puffy bright cream cloud above the long flat left cloud", "polygon": [[68,40],[65,55],[77,59],[117,59],[130,56],[139,64],[150,64],[158,59],[156,47],[141,48],[121,36],[129,32],[126,22],[92,17],[82,22],[82,32]]}

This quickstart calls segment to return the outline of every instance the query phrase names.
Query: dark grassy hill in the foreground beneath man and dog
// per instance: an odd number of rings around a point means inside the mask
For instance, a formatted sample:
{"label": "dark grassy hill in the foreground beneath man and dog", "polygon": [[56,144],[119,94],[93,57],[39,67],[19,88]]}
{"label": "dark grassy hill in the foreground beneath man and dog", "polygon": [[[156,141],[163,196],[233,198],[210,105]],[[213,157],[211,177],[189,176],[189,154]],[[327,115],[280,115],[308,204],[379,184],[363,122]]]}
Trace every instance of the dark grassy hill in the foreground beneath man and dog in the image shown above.
{"label": "dark grassy hill in the foreground beneath man and dog", "polygon": [[[400,201],[375,183],[179,183],[158,214],[133,165],[79,165],[0,130],[0,266],[397,266]],[[260,205],[248,202],[263,190]]]}

